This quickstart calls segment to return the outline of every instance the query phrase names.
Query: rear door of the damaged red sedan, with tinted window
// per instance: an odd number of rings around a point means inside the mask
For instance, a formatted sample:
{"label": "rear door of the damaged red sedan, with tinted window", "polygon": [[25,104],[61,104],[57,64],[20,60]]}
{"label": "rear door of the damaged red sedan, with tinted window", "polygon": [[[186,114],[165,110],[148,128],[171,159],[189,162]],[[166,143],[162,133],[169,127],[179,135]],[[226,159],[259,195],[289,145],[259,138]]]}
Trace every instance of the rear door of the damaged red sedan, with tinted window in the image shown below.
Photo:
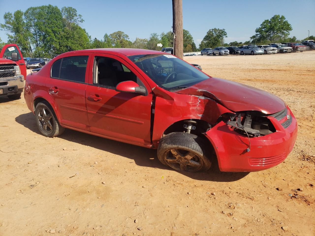
{"label": "rear door of the damaged red sedan, with tinted window", "polygon": [[60,115],[61,123],[78,129],[90,130],[85,104],[85,89],[91,53],[68,54],[54,61],[46,88]]}

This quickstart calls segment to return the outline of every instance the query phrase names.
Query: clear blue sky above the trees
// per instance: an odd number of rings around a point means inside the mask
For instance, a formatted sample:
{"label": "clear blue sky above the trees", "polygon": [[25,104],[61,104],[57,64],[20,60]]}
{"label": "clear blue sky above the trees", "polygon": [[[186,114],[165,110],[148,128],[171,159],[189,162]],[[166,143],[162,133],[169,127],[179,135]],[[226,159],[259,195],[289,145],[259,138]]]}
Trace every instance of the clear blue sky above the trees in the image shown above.
{"label": "clear blue sky above the trees", "polygon": [[[254,4],[255,3],[255,4]],[[71,6],[85,20],[81,26],[92,38],[101,39],[105,33],[124,31],[130,40],[136,37],[148,38],[151,33],[166,32],[172,26],[171,0],[54,0],[21,1],[0,0],[0,23],[4,23],[3,14],[16,10],[25,11],[29,7],[52,4],[60,9]],[[244,42],[255,34],[263,20],[275,14],[284,15],[292,25],[290,36],[303,39],[315,35],[315,1],[202,1],[183,0],[183,27],[188,30],[198,47],[206,32],[212,28],[225,29],[225,42]],[[6,42],[5,31],[0,38]]]}

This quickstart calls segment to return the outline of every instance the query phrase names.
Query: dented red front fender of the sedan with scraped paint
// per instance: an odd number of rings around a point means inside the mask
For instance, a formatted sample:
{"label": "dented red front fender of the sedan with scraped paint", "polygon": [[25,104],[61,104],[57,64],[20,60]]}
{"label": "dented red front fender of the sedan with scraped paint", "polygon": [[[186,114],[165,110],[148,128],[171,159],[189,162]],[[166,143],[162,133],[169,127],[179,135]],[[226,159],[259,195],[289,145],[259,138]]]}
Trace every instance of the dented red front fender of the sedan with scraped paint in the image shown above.
{"label": "dented red front fender of the sedan with scraped paint", "polygon": [[[160,93],[159,93],[160,92]],[[221,114],[231,112],[213,99],[153,89],[155,94],[152,144],[158,146],[163,132],[177,121],[197,119],[213,126]]]}

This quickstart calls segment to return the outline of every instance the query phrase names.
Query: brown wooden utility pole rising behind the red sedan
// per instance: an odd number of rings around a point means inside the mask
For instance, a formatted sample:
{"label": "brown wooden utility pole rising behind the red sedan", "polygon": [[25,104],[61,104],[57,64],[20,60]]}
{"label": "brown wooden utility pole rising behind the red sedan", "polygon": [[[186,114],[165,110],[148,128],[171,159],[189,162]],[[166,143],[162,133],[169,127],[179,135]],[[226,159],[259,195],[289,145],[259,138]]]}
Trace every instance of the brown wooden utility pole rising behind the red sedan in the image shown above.
{"label": "brown wooden utility pole rising behind the red sedan", "polygon": [[182,0],[172,0],[173,2],[173,32],[174,55],[183,59],[183,4]]}

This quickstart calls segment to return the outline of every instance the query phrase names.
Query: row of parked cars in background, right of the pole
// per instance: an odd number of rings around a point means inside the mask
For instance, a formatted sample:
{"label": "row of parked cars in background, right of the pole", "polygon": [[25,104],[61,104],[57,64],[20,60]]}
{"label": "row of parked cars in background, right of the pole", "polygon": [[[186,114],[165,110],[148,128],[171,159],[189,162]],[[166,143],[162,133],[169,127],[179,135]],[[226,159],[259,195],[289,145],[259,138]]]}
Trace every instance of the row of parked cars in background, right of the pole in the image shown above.
{"label": "row of parked cars in background, right of the pole", "polygon": [[315,49],[313,40],[306,40],[301,43],[297,42],[283,42],[271,43],[269,45],[243,45],[240,47],[216,47],[203,48],[201,55],[228,55],[228,54],[274,54],[274,53],[291,53],[291,52],[304,52],[305,50]]}

